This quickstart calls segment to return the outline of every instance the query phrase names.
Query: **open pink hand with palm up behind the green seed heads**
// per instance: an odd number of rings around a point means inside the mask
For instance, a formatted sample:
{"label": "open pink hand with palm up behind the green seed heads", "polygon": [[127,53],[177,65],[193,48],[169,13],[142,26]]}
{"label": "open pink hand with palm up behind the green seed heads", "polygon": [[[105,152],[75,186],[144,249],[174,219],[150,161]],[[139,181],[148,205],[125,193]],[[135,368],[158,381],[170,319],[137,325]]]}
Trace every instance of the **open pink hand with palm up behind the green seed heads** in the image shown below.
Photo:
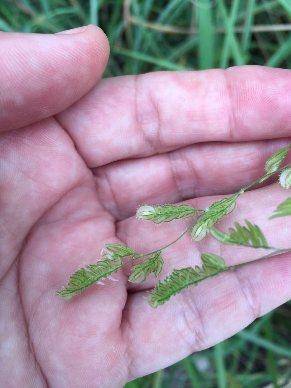
{"label": "open pink hand with palm up behind the green seed heads", "polygon": [[[162,72],[96,85],[106,37],[94,26],[74,32],[0,34],[3,386],[122,387],[291,298],[289,253],[205,281],[156,310],[142,296],[157,280],[128,284],[130,266],[113,274],[118,282],[94,284],[70,302],[54,296],[106,242],[147,253],[191,222],[137,220],[140,204],[205,208],[263,175],[291,131],[288,70]],[[242,194],[220,229],[247,218],[271,245],[290,246],[289,218],[267,221],[289,196],[274,180]],[[164,251],[160,278],[199,263],[200,252],[228,265],[265,253],[188,234]]]}

